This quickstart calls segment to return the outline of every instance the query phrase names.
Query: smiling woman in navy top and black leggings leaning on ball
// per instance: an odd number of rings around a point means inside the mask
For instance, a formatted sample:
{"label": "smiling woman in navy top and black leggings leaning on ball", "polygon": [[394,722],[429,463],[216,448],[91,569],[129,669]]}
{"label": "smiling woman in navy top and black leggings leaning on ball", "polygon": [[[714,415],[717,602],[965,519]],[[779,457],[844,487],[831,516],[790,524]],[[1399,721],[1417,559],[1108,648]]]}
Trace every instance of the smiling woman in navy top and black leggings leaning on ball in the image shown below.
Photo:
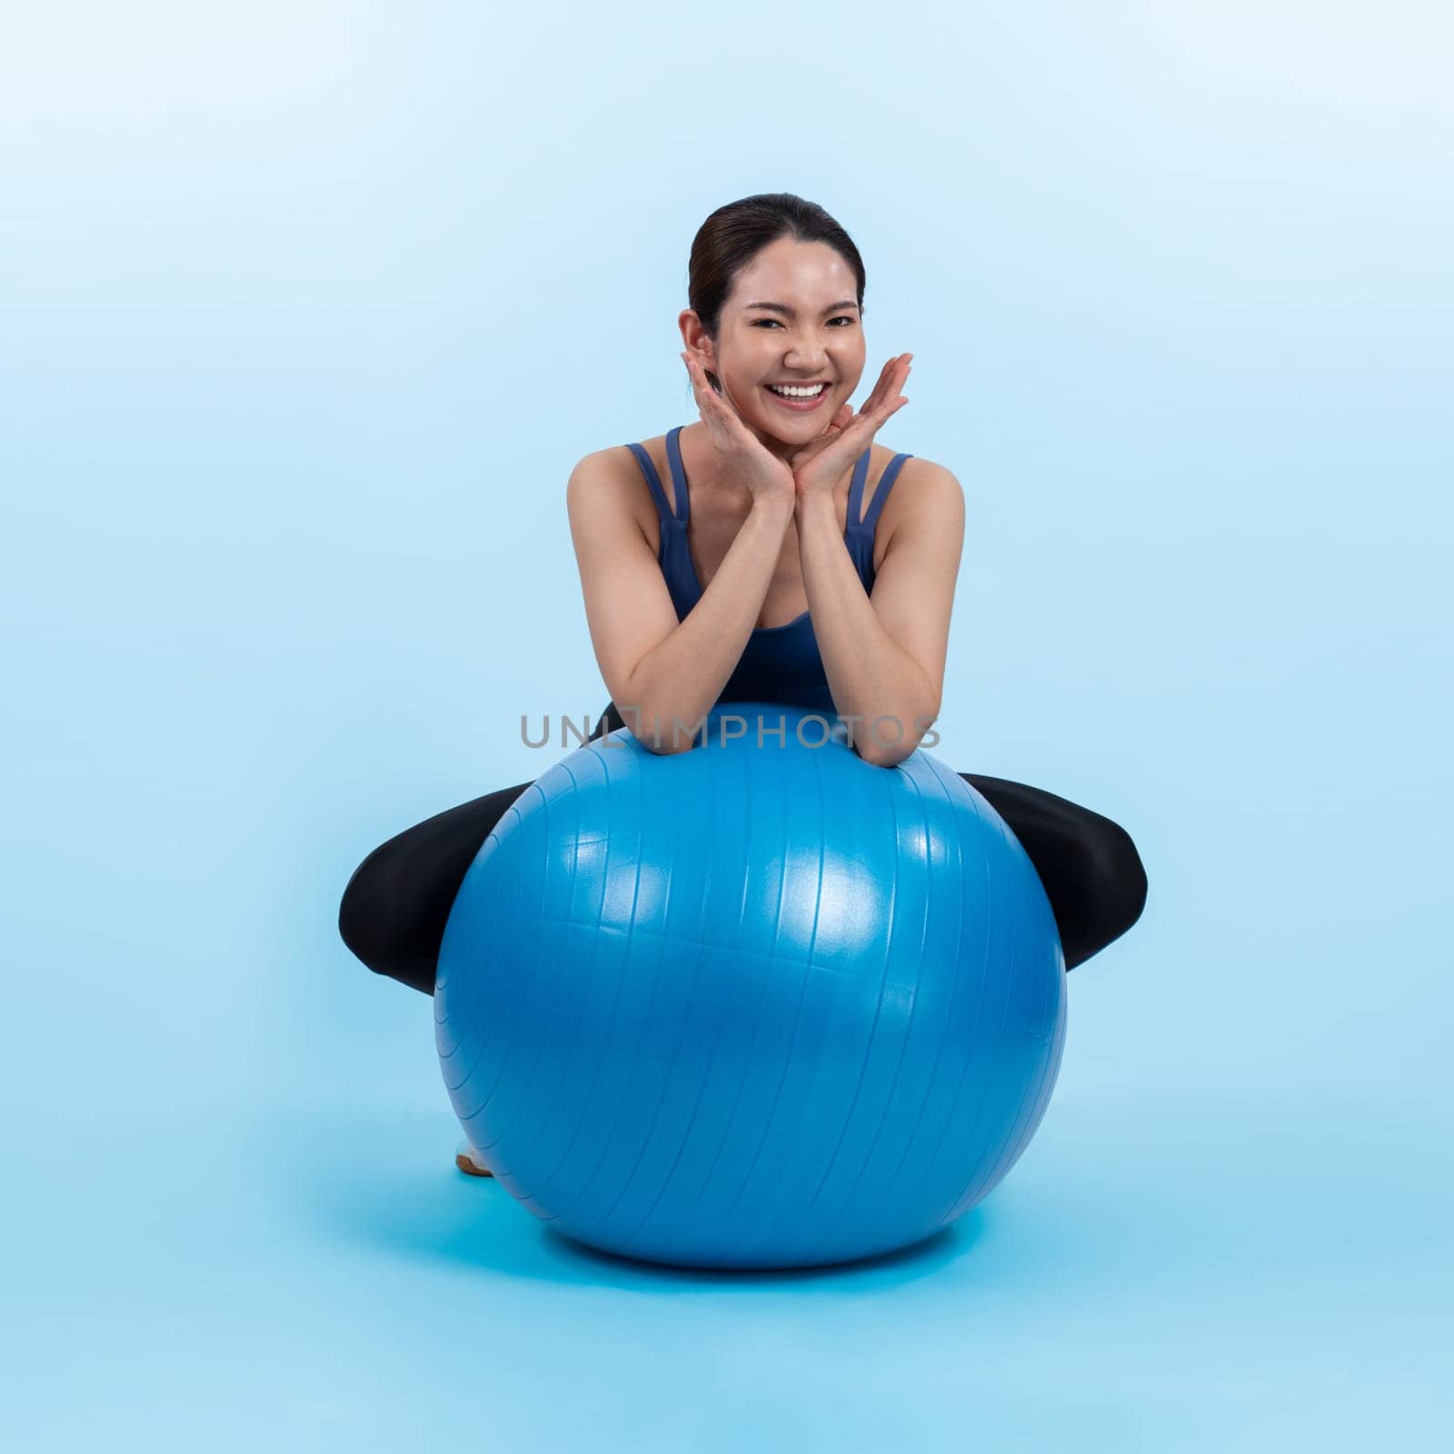
{"label": "smiling woman in navy top and black leggings leaning on ball", "polygon": [[[701,414],[587,455],[566,490],[586,619],[628,726],[685,752],[718,701],[838,712],[893,768],[939,712],[964,496],[942,465],[874,442],[906,403],[890,359],[856,414],[864,265],[791,193],[715,211],[692,243],[682,359]],[[618,708],[616,704],[621,704]],[[1120,824],[1041,788],[960,774],[1045,887],[1066,968],[1140,917],[1146,872]],[[474,855],[528,782],[391,838],[343,893],[339,932],[371,968],[433,993],[445,920]],[[462,1170],[490,1175],[461,1143]]]}

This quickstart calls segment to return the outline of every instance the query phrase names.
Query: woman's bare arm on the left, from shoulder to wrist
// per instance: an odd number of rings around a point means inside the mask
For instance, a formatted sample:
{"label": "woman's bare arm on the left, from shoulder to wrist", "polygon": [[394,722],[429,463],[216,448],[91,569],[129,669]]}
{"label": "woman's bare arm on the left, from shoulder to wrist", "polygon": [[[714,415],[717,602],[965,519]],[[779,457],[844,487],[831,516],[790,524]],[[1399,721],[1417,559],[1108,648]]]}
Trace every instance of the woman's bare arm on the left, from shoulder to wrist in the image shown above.
{"label": "woman's bare arm on the left, from shoulder to wrist", "polygon": [[571,470],[566,507],[602,680],[641,744],[670,755],[692,746],[742,659],[794,502],[753,502],[702,599],[678,622],[662,566],[632,515],[638,489],[630,451],[598,449]]}

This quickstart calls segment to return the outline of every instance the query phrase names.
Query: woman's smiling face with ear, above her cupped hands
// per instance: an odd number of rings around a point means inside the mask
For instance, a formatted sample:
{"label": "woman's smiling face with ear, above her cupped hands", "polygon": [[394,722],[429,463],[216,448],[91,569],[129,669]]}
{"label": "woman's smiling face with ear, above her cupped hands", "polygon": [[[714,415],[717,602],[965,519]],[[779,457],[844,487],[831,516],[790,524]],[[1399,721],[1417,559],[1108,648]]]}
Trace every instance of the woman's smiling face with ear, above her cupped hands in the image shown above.
{"label": "woman's smiling face with ear, above her cupped hands", "polygon": [[[858,279],[839,252],[779,237],[737,273],[715,345],[691,310],[682,333],[743,423],[797,448],[823,432],[862,377],[856,300]],[[797,407],[768,387],[817,382],[827,385],[817,400]]]}

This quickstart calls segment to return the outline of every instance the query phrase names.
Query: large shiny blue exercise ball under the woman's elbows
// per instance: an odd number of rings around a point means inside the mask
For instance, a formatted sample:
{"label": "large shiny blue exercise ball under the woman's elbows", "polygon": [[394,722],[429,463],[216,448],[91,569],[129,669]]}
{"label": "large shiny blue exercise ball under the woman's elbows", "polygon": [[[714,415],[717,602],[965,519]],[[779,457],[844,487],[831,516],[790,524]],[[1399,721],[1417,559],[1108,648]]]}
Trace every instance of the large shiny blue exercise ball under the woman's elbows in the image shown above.
{"label": "large shiny blue exercise ball under the woman's elbows", "polygon": [[1066,973],[1044,887],[922,749],[872,766],[836,718],[769,702],[718,704],[696,740],[590,742],[480,846],[435,983],[451,1104],[516,1201],[605,1252],[906,1248],[1045,1112]]}

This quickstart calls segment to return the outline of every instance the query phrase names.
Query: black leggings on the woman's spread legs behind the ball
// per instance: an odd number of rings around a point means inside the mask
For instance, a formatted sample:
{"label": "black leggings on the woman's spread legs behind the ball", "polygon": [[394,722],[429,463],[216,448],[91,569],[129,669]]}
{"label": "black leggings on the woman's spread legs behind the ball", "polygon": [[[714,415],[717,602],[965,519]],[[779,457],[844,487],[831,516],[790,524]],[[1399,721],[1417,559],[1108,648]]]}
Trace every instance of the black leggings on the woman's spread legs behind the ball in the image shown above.
{"label": "black leggings on the woman's spread legs behind the ball", "polygon": [[[624,726],[609,702],[587,740]],[[1146,869],[1120,823],[1044,788],[977,772],[960,776],[984,794],[1035,865],[1067,970],[1136,923],[1146,904]],[[353,954],[377,974],[433,995],[439,941],[459,884],[490,829],[529,785],[487,792],[379,843],[353,869],[339,906],[339,933]]]}

